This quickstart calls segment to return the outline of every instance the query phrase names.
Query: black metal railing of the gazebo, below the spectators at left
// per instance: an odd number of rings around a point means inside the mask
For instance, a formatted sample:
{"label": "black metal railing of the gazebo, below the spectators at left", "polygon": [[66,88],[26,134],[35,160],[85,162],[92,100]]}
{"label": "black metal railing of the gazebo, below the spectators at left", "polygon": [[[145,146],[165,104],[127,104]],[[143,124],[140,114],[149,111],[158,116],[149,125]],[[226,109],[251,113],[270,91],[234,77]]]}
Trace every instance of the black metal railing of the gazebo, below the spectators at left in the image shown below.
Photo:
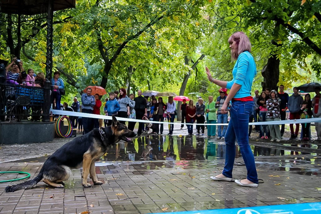
{"label": "black metal railing of the gazebo, below the spectators at left", "polygon": [[0,78],[0,121],[49,121],[51,83],[44,87],[13,85]]}

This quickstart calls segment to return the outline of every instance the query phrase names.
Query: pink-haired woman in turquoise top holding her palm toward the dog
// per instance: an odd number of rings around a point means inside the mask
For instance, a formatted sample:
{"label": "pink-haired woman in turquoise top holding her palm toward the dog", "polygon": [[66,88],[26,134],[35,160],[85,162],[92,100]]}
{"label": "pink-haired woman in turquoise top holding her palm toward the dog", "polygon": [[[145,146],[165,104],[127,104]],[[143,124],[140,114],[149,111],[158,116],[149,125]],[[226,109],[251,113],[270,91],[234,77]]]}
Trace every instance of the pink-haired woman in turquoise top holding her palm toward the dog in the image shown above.
{"label": "pink-haired woman in turquoise top holding her palm toward the dog", "polygon": [[227,112],[227,105],[232,101],[230,109],[231,119],[225,134],[226,157],[222,174],[211,176],[216,181],[232,181],[232,171],[235,159],[235,140],[238,140],[239,148],[247,169],[247,178],[235,180],[241,186],[257,187],[258,179],[254,156],[248,142],[248,118],[253,112],[254,102],[250,94],[252,82],[256,75],[256,64],[250,54],[251,43],[243,32],[235,32],[229,38],[231,56],[236,60],[232,74],[233,80],[220,81],[212,77],[206,67],[208,80],[222,88],[230,89],[230,93],[221,107],[221,113]]}

